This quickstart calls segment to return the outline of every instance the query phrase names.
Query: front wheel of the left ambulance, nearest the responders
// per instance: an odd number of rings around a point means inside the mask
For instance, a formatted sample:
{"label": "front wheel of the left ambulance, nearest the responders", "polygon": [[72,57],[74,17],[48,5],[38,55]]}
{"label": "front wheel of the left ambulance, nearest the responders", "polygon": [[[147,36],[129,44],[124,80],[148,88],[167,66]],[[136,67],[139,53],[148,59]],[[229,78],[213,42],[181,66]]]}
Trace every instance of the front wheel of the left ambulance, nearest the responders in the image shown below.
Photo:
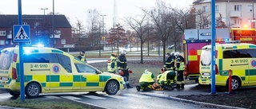
{"label": "front wheel of the left ambulance, nearest the responders", "polygon": [[115,80],[106,83],[105,91],[108,95],[115,95],[119,90],[119,84]]}

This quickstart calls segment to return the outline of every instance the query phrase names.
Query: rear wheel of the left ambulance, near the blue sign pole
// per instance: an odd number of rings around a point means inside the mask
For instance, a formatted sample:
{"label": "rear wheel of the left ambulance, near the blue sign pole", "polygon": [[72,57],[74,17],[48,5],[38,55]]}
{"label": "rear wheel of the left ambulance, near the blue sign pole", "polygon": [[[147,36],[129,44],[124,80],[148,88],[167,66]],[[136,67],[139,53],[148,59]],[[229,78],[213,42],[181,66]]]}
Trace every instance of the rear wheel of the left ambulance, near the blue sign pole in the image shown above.
{"label": "rear wheel of the left ambulance, near the blue sign pole", "polygon": [[28,98],[35,98],[41,92],[41,87],[37,83],[30,83],[26,85],[25,94]]}

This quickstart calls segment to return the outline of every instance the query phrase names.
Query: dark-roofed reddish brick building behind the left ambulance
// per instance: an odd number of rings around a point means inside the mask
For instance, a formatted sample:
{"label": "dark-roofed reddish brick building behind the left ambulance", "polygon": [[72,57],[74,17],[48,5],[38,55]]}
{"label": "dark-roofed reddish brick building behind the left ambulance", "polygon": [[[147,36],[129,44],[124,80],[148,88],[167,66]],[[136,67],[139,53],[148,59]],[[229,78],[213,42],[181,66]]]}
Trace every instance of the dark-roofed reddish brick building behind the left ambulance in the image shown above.
{"label": "dark-roofed reddish brick building behind the left ambulance", "polygon": [[[18,25],[18,15],[0,14],[0,19],[0,49],[18,45],[12,41],[12,26]],[[22,15],[22,25],[30,25],[31,42],[26,45],[41,43],[58,49],[73,45],[72,27],[65,15],[54,15],[54,29],[52,19],[53,15]]]}

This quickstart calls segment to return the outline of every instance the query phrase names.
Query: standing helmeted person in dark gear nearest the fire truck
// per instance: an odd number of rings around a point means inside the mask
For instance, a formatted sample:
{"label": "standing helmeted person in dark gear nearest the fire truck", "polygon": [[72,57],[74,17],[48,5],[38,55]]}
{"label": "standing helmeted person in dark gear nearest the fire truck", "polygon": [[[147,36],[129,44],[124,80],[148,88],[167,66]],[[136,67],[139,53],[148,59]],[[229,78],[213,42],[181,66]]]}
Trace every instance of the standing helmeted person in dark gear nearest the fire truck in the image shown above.
{"label": "standing helmeted person in dark gear nearest the fire truck", "polygon": [[178,52],[175,53],[176,56],[176,67],[175,70],[177,71],[177,83],[176,88],[184,88],[185,82],[184,82],[184,70],[185,70],[185,59],[183,56],[181,56]]}

